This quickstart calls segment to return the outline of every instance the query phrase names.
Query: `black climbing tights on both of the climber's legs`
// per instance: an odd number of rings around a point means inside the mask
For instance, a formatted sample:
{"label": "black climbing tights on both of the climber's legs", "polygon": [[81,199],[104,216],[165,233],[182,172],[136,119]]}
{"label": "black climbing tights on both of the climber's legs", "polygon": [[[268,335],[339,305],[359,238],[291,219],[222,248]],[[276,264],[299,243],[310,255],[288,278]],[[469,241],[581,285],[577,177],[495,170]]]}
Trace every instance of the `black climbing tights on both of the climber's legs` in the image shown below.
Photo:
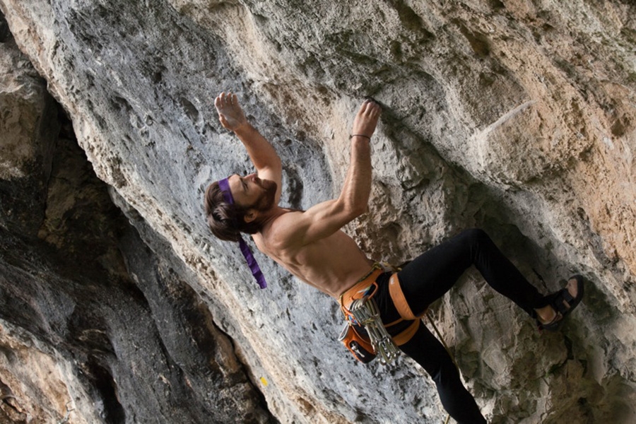
{"label": "black climbing tights on both of the climber's legs", "polygon": [[[546,302],[536,288],[500,252],[482,230],[466,230],[461,234],[413,259],[399,273],[399,281],[414,314],[420,314],[442,297],[462,273],[476,266],[485,281],[497,292],[510,298],[531,317],[534,308]],[[384,322],[397,319],[397,311],[389,300],[385,278],[379,278],[378,305]],[[401,350],[420,364],[432,377],[446,411],[460,424],[485,423],[473,396],[461,383],[459,372],[442,343],[428,329],[420,329]]]}

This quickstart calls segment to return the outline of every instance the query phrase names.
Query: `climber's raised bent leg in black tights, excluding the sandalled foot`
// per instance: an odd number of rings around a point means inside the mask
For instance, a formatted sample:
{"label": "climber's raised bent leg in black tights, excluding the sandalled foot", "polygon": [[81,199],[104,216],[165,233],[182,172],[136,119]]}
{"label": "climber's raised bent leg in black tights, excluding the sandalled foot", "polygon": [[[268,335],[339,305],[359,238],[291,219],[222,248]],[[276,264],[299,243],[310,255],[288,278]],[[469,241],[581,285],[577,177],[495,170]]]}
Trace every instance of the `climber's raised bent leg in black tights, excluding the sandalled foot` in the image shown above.
{"label": "climber's raised bent leg in black tights, excluding the sandalled foot", "polygon": [[399,273],[404,296],[414,314],[441,298],[461,274],[476,266],[497,292],[519,305],[531,317],[546,299],[495,246],[483,230],[465,230],[413,259]]}

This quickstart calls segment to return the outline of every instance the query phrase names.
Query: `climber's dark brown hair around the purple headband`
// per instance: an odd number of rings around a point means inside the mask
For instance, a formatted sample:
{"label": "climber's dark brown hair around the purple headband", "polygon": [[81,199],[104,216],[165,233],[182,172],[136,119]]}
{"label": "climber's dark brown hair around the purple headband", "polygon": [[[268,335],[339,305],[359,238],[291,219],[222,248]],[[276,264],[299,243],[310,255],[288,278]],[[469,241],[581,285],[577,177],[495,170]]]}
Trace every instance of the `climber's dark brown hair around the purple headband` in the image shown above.
{"label": "climber's dark brown hair around the purple headband", "polygon": [[249,207],[228,204],[223,198],[223,192],[218,187],[218,181],[213,182],[206,189],[206,216],[212,234],[229,242],[240,240],[241,232],[254,234],[258,232],[261,223],[257,220],[245,222],[245,213]]}

